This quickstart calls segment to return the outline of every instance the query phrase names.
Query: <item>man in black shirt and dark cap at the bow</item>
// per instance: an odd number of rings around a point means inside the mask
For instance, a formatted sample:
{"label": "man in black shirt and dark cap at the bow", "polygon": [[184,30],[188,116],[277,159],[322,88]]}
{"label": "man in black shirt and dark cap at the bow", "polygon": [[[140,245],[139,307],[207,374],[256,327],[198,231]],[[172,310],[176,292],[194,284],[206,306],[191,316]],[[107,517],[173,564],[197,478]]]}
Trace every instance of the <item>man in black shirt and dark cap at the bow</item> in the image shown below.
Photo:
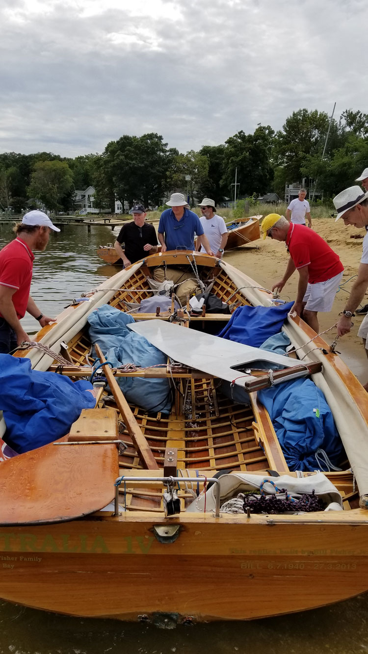
{"label": "man in black shirt and dark cap at the bow", "polygon": [[[124,267],[143,259],[146,254],[157,252],[157,235],[153,225],[144,222],[146,209],[142,204],[134,205],[131,212],[134,222],[122,226],[114,248],[124,262]],[[125,244],[125,250],[122,249]]]}

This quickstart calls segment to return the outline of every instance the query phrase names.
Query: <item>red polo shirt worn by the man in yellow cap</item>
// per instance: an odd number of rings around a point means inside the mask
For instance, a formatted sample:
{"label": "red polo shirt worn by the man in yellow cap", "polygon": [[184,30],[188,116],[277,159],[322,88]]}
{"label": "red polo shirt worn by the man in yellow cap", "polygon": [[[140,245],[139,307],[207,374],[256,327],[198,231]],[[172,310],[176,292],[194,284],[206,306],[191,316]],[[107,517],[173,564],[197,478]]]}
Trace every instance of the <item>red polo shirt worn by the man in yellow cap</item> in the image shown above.
{"label": "red polo shirt worn by the man in yellow cap", "polygon": [[336,252],[322,237],[304,225],[290,223],[286,245],[297,270],[308,266],[310,284],[326,282],[343,272],[344,266]]}

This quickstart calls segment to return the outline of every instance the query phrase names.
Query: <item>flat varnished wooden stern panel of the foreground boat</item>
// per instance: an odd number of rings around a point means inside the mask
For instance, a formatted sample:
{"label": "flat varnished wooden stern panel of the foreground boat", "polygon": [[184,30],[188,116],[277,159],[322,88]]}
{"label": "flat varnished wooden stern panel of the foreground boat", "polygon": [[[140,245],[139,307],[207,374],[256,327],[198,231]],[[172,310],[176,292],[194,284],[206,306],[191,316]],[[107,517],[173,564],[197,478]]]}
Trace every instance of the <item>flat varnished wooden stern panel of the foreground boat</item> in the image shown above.
{"label": "flat varnished wooden stern panel of the foreground boat", "polygon": [[367,589],[364,523],[220,521],[191,517],[171,544],[153,534],[167,523],[147,515],[1,529],[1,597],[68,615],[181,622],[280,615]]}

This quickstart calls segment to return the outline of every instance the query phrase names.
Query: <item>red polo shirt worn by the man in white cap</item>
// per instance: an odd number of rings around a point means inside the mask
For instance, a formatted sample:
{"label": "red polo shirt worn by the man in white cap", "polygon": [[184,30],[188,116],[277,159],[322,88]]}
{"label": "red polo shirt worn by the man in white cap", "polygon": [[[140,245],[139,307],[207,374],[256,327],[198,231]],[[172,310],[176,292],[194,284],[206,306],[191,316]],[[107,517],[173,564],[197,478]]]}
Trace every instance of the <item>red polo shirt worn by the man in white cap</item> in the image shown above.
{"label": "red polo shirt worn by the man in white cap", "polygon": [[27,310],[34,258],[19,236],[0,250],[0,284],[16,288],[12,303],[18,318],[23,318]]}

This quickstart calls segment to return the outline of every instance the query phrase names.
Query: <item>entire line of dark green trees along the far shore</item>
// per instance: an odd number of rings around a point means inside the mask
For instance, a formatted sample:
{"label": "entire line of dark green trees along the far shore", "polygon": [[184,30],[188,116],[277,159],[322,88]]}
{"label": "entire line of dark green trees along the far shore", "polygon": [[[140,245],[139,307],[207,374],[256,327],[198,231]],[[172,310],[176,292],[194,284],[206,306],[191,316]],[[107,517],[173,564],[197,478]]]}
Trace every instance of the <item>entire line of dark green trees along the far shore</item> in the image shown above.
{"label": "entire line of dark green trees along the far shore", "polygon": [[[261,124],[254,133],[243,130],[221,145],[205,145],[181,154],[157,133],[123,135],[110,141],[102,154],[76,158],[50,152],[0,154],[0,208],[16,213],[41,200],[51,211],[73,209],[75,190],[95,188],[95,207],[112,209],[119,199],[146,207],[163,203],[168,192],[193,198],[207,196],[220,203],[237,196],[275,192],[284,198],[286,182],[307,186],[318,180],[325,198],[354,184],[368,165],[368,114],[346,109],[331,121],[322,158],[329,116],[299,109],[279,131]],[[312,195],[310,193],[310,195]]]}

